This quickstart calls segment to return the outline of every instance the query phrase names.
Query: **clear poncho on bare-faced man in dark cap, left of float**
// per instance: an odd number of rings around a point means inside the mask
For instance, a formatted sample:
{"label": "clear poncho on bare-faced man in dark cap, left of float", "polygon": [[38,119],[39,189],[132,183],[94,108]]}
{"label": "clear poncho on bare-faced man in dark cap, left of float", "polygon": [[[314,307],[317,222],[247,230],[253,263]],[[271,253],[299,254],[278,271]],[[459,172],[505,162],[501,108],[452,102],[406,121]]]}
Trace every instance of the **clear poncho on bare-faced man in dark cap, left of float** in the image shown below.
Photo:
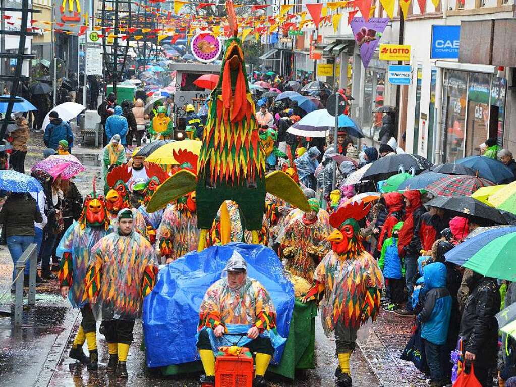
{"label": "clear poncho on bare-faced man in dark cap, left of float", "polygon": [[98,297],[92,306],[97,320],[133,320],[140,315],[143,298],[150,293],[157,278],[157,259],[147,239],[133,230],[127,236],[115,232],[98,241],[91,250],[86,275],[86,291]]}

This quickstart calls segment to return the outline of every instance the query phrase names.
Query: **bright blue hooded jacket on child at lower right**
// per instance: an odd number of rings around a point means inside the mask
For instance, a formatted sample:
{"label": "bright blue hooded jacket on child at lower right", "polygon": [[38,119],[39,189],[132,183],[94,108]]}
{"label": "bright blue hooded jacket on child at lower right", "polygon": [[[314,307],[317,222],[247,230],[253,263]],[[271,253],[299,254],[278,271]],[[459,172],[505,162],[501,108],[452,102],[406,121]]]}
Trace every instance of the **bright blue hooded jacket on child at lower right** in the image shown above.
{"label": "bright blue hooded jacket on child at lower right", "polygon": [[423,310],[417,315],[422,322],[421,337],[430,343],[446,343],[451,315],[451,296],[446,288],[446,266],[436,262],[426,265],[425,287],[427,289]]}

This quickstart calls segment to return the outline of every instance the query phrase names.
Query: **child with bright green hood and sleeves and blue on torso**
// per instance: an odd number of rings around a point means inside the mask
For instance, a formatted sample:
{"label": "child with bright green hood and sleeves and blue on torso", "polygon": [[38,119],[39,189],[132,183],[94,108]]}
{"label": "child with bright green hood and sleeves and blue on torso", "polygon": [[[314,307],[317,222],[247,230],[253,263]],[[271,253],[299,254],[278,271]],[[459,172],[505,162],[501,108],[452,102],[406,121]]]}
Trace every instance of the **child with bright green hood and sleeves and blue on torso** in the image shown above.
{"label": "child with bright green hood and sleeves and blue on torso", "polygon": [[399,309],[400,304],[405,300],[403,295],[405,268],[398,253],[398,232],[402,225],[403,222],[394,225],[392,236],[383,242],[380,260],[378,261],[387,288],[388,304],[383,308],[386,312],[394,312]]}

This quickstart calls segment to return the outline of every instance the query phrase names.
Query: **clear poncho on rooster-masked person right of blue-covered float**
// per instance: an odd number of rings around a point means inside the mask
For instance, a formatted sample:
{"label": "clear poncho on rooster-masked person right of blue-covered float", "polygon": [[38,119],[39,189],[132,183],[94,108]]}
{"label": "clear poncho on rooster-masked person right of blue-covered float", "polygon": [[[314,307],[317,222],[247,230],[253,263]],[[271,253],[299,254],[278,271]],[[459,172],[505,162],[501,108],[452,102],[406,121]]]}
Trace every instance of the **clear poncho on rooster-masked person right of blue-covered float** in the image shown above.
{"label": "clear poncho on rooster-masked person right of blue-covered float", "polygon": [[337,325],[358,330],[378,316],[383,276],[369,253],[345,259],[331,250],[315,269],[314,280],[323,294],[319,309],[327,336]]}

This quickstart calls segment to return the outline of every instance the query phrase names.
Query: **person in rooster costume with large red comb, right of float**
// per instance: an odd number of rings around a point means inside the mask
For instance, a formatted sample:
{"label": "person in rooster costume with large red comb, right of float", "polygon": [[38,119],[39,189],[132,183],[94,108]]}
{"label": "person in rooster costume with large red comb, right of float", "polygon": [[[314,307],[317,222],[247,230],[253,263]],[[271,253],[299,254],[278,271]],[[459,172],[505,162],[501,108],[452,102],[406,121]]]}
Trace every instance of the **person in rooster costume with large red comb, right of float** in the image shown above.
{"label": "person in rooster costume with large red comb, right of float", "polygon": [[375,321],[380,310],[383,276],[376,260],[364,249],[359,221],[369,211],[361,203],[348,204],[330,216],[336,229],[329,236],[332,250],[314,272],[314,284],[303,301],[321,300],[322,328],[335,334],[339,387],[351,387],[349,357],[357,331]]}

